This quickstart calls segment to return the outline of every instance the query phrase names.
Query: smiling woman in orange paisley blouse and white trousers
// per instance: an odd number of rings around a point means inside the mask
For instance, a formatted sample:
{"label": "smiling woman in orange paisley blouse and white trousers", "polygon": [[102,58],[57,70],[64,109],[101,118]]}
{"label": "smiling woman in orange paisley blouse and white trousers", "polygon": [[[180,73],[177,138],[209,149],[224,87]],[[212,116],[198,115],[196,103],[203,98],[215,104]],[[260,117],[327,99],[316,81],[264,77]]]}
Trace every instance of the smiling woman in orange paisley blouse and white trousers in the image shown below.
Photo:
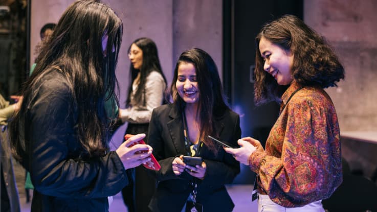
{"label": "smiling woman in orange paisley blouse and white trousers", "polygon": [[324,88],[336,86],[344,68],[293,15],[265,25],[256,46],[256,104],[278,101],[280,115],[265,149],[246,137],[225,150],[258,174],[259,211],[324,211],[321,200],[342,182],[338,118]]}

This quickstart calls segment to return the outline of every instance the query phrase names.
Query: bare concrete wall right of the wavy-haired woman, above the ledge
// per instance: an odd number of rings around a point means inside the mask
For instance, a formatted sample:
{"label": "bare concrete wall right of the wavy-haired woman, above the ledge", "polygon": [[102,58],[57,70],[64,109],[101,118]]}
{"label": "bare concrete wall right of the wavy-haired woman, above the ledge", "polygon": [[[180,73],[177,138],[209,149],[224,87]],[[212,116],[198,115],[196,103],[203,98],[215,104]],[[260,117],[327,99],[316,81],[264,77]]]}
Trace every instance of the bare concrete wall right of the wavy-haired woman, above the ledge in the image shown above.
{"label": "bare concrete wall right of the wavy-haired woman, above the ledge", "polygon": [[304,21],[324,35],[345,67],[345,80],[326,91],[341,131],[377,130],[377,2],[305,1]]}

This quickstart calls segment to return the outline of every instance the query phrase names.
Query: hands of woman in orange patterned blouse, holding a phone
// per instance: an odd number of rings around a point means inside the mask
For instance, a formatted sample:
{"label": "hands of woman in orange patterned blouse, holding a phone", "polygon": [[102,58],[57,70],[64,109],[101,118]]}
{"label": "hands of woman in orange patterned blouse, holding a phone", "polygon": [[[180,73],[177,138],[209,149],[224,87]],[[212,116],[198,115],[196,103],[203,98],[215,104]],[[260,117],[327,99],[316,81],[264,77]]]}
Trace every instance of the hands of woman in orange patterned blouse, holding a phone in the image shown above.
{"label": "hands of woman in orange patterned blouse, holding a phone", "polygon": [[[229,154],[232,154],[233,157],[238,160],[240,163],[249,166],[249,157],[250,155],[257,150],[250,142],[247,140],[238,139],[238,145],[240,148],[228,148],[224,147],[224,150]],[[262,148],[263,149],[263,148]]]}

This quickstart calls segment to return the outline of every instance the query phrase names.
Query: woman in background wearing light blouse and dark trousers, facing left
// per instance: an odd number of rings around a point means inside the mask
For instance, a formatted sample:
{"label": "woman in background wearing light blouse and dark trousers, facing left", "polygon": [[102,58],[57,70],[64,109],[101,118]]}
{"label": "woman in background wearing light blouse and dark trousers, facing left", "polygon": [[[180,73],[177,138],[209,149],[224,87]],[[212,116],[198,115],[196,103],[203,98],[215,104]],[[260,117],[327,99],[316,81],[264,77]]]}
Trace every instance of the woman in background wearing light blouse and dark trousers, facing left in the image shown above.
{"label": "woman in background wearing light blouse and dark trousers, facing left", "polygon": [[[119,109],[119,118],[128,122],[126,134],[148,133],[152,110],[164,103],[167,86],[162,72],[156,43],[150,38],[136,39],[128,48],[131,81],[126,108]],[[122,190],[129,211],[150,211],[148,203],[156,180],[143,166],[127,170],[130,183]]]}

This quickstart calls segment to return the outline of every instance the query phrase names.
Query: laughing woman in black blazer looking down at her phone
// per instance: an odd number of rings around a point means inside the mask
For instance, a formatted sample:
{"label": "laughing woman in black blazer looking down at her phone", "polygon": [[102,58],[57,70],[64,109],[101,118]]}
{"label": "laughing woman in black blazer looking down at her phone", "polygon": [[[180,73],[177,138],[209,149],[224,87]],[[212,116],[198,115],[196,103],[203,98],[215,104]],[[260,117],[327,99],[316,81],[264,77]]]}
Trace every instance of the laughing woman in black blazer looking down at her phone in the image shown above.
{"label": "laughing woman in black blazer looking down at her phone", "polygon": [[[171,95],[173,103],[154,109],[149,124],[148,144],[161,164],[154,173],[159,184],[149,207],[232,211],[234,204],[224,184],[232,183],[239,173],[239,162],[207,136],[236,146],[241,136],[239,115],[226,105],[217,67],[205,51],[181,54]],[[204,161],[191,167],[183,162],[184,155]]]}

